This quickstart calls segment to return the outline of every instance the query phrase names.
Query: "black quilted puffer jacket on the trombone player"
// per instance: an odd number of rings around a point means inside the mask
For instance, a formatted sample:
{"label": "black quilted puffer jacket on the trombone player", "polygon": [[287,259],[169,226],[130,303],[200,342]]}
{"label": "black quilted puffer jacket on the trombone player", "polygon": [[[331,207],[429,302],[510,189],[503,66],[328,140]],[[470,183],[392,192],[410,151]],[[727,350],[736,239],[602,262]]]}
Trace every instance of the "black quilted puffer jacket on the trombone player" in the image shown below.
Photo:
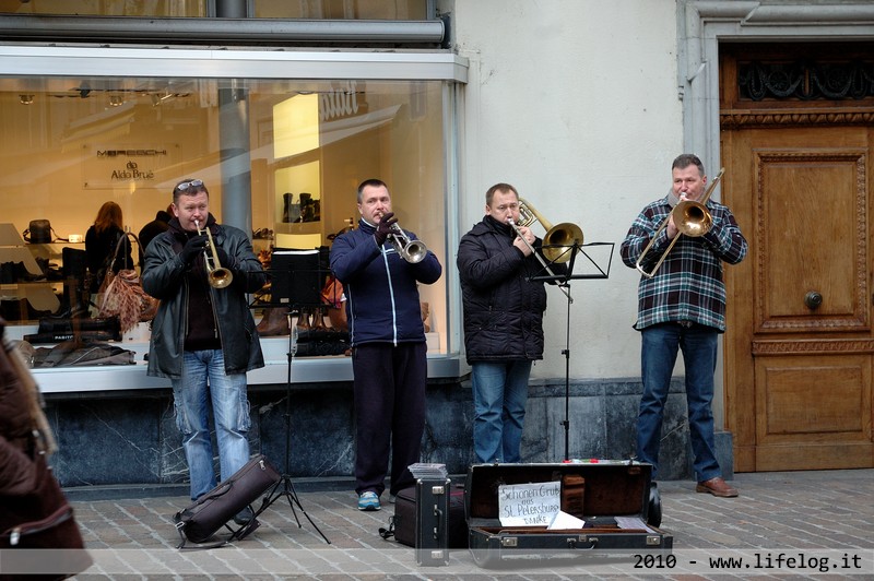
{"label": "black quilted puffer jacket on the trombone player", "polygon": [[[543,358],[546,289],[538,258],[512,246],[515,233],[486,215],[458,248],[468,363]],[[534,242],[540,252],[541,239]],[[563,265],[551,266],[564,272]]]}

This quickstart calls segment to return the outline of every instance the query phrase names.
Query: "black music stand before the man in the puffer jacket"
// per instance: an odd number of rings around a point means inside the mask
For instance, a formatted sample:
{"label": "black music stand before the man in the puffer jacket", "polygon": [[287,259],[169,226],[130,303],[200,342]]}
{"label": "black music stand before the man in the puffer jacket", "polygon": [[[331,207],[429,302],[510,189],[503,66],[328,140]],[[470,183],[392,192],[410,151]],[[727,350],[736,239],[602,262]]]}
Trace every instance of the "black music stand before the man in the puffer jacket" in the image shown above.
{"label": "black music stand before the man in the puffer jacket", "polygon": [[[586,248],[610,247],[610,256],[607,258],[606,270],[604,270],[591,256],[584,250]],[[570,460],[568,449],[570,448],[570,304],[574,299],[570,297],[570,281],[579,281],[587,278],[607,278],[610,276],[610,266],[613,264],[613,249],[614,242],[589,242],[586,245],[574,242],[572,245],[544,245],[542,248],[564,249],[551,262],[544,263],[543,269],[530,276],[530,281],[555,282],[556,285],[563,288],[567,297],[567,319],[565,329],[565,348],[562,349],[562,355],[565,356],[565,419],[562,425],[565,427],[565,460]],[[606,248],[604,248],[606,249]],[[570,253],[570,259],[564,260]],[[578,256],[583,256],[588,263],[583,263],[587,269],[586,272],[574,274],[574,266]],[[562,274],[555,274],[548,266],[566,262],[567,270]],[[542,275],[540,273],[546,272]]]}

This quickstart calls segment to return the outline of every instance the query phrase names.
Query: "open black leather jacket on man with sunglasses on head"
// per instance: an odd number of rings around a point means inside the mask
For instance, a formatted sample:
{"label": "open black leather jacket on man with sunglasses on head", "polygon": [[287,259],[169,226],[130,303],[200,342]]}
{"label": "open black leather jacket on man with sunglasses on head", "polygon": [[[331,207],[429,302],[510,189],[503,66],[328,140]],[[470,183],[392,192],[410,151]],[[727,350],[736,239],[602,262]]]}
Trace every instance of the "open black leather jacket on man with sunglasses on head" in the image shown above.
{"label": "open black leather jacket on man with sunglasses on head", "polygon": [[[264,366],[261,343],[255,330],[255,319],[249,310],[246,293],[261,288],[267,281],[267,274],[243,230],[218,225],[212,215],[206,227],[210,228],[215,245],[224,249],[231,259],[229,264],[222,266],[231,270],[234,275],[234,281],[225,288],[209,287],[222,341],[225,371],[244,374]],[[155,237],[145,252],[143,290],[161,299],[157,315],[152,321],[147,370],[150,376],[179,378],[182,372],[189,311],[189,283],[185,262],[179,257],[184,238],[179,221],[173,218],[169,229]],[[202,257],[198,261],[202,261]],[[198,265],[198,261],[196,268],[202,271],[202,264]],[[205,272],[203,275],[205,276]]]}

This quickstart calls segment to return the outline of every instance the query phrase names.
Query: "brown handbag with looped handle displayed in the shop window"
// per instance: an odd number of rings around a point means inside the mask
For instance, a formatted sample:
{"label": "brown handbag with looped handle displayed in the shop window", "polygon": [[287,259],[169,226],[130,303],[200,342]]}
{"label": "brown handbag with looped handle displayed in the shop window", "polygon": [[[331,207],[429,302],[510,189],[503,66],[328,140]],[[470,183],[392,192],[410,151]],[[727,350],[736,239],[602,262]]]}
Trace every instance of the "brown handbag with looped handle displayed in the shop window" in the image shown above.
{"label": "brown handbag with looped handle displayed in the shop window", "polygon": [[121,332],[133,329],[137,323],[151,321],[157,312],[158,300],[143,290],[140,275],[134,269],[121,269],[117,273],[115,263],[121,246],[132,238],[139,246],[137,235],[127,233],[118,239],[113,260],[106,269],[101,289],[97,293],[97,312],[99,317],[118,317]]}

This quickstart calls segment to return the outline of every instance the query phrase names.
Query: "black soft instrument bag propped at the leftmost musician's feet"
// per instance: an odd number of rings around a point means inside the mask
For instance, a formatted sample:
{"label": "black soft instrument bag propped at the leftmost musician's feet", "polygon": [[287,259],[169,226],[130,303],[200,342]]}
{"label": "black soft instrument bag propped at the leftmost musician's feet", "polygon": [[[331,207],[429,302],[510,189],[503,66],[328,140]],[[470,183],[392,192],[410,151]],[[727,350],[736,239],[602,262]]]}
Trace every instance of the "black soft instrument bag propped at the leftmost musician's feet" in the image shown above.
{"label": "black soft instrument bag propped at the leftmost musician's feet", "polygon": [[[236,513],[250,506],[268,488],[280,482],[281,477],[273,464],[263,454],[249,460],[233,476],[198,498],[188,508],[176,513],[174,521],[181,540],[176,548],[185,548],[186,541],[191,543],[204,543],[208,541],[216,531],[225,526]],[[257,517],[258,513],[260,513],[260,510],[255,515]],[[199,548],[218,547],[233,540],[244,538],[255,531],[258,524],[258,520],[253,517],[251,521],[238,530],[233,531],[232,529],[233,534],[228,538]],[[228,529],[231,527],[228,526]]]}

